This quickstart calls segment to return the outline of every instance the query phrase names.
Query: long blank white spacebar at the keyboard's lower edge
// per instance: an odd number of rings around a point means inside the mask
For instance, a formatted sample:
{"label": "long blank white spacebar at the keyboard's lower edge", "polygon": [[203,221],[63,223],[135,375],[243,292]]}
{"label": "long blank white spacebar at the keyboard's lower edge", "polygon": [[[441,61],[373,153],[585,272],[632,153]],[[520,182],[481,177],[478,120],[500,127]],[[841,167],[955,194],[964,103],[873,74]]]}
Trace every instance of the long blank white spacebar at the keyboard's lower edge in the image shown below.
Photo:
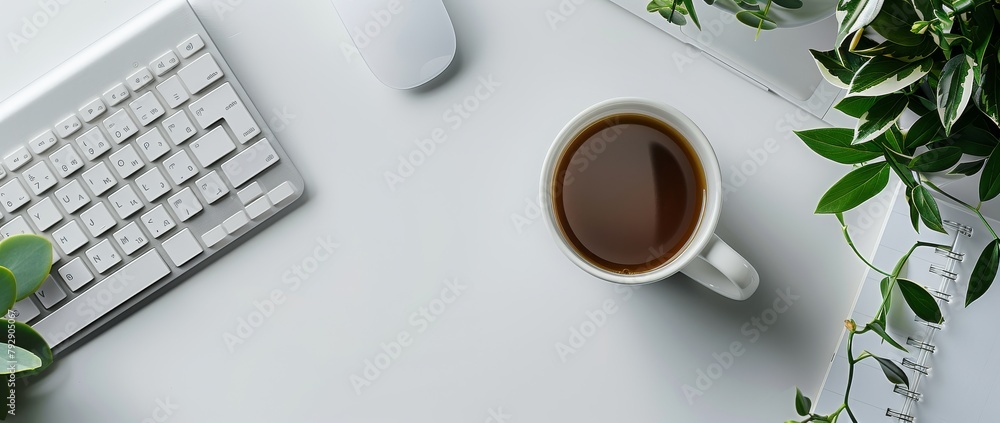
{"label": "long blank white spacebar at the keyboard's lower edge", "polygon": [[160,254],[151,250],[32,327],[54,347],[169,274]]}

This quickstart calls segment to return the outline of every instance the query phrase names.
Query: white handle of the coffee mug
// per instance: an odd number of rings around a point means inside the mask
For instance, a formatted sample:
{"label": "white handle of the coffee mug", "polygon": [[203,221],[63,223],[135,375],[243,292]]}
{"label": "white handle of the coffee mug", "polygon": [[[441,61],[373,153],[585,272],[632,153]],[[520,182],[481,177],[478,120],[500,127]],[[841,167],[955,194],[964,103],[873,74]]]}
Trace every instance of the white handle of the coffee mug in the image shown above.
{"label": "white handle of the coffee mug", "polygon": [[681,273],[726,298],[739,301],[750,298],[760,285],[757,270],[714,234],[708,246]]}

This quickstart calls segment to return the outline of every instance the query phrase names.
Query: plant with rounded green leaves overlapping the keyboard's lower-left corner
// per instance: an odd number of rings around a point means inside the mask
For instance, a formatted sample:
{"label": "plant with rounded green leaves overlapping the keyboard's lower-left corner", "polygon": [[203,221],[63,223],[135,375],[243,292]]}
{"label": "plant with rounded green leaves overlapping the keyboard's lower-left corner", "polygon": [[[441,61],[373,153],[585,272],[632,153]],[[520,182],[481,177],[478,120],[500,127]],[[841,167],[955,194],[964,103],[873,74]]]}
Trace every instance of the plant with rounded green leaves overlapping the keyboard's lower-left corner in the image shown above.
{"label": "plant with rounded green leaves overlapping the keyboard's lower-left corner", "polygon": [[38,290],[52,269],[52,244],[37,235],[14,235],[0,241],[0,304],[7,310],[6,365],[0,375],[6,379],[6,412],[0,420],[15,412],[18,379],[43,372],[52,364],[52,350],[38,332],[15,322],[9,310],[14,303]]}

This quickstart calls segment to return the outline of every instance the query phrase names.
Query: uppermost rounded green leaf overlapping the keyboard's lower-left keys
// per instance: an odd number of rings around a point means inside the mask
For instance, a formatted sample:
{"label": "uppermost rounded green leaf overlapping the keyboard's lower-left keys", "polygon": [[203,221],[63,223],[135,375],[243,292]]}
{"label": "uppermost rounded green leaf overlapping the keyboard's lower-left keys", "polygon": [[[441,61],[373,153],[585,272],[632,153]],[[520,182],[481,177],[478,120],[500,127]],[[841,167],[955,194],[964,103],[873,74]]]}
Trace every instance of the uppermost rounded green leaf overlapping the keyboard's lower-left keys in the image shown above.
{"label": "uppermost rounded green leaf overlapping the keyboard's lower-left keys", "polygon": [[38,235],[14,235],[0,241],[0,266],[14,274],[17,301],[38,290],[52,270],[52,244]]}

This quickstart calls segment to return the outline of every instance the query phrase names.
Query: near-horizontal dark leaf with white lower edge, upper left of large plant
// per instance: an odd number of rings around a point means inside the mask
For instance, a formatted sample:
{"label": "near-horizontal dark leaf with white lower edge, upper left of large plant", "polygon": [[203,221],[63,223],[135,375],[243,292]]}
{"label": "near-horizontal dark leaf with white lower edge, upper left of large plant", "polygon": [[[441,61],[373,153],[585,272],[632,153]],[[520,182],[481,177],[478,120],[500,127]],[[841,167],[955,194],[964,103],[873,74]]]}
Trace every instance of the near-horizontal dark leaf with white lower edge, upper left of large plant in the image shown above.
{"label": "near-horizontal dark leaf with white lower edge, upper left of large plant", "polygon": [[880,96],[901,91],[930,72],[934,60],[904,62],[876,56],[858,69],[851,80],[851,96]]}

